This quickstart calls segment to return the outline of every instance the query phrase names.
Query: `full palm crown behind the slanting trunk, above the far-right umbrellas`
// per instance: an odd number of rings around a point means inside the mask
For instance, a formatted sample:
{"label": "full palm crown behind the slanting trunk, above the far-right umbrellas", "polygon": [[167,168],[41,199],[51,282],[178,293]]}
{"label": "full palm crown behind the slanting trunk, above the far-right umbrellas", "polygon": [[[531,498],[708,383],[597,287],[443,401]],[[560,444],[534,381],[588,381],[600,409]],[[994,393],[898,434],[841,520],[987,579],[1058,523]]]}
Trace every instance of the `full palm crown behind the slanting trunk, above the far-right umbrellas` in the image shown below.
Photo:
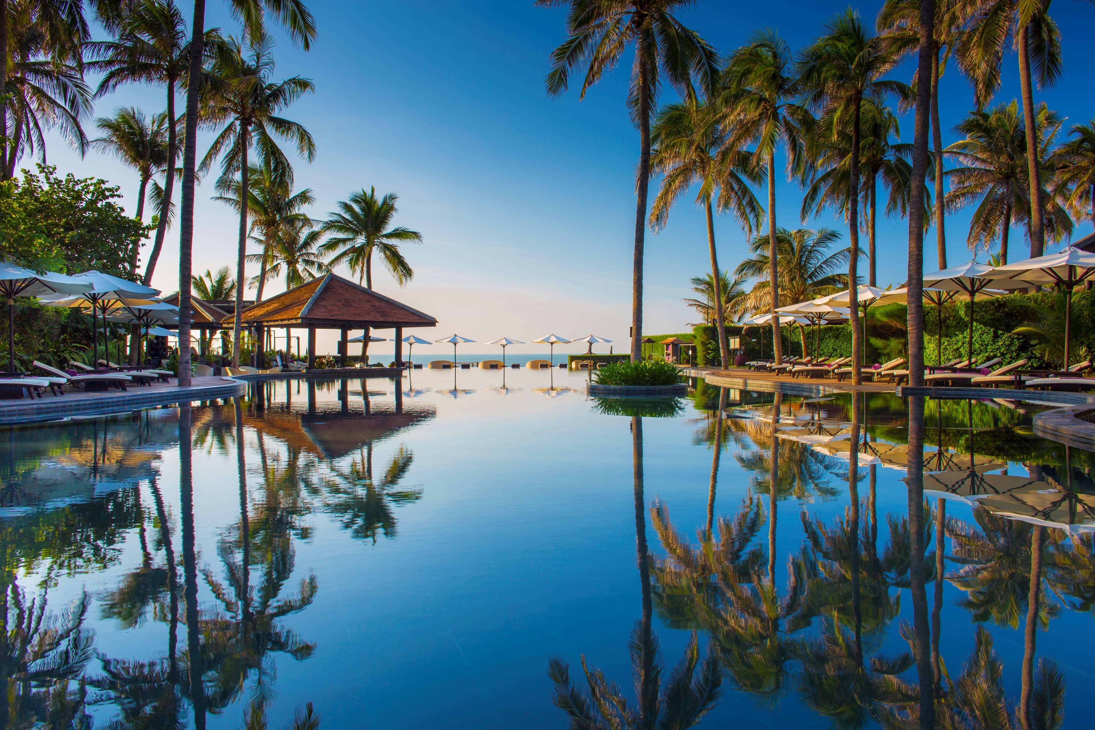
{"label": "full palm crown behind the slanting trunk, above the far-right umbrellas", "polygon": [[[1038,159],[1044,172],[1053,164],[1051,147],[1061,119],[1040,105],[1036,138]],[[946,152],[958,160],[960,167],[947,171],[953,189],[947,194],[947,207],[961,208],[978,201],[970,220],[969,243],[987,245],[1000,235],[1000,258],[1007,263],[1008,231],[1012,221],[1027,223],[1030,255],[1035,255],[1034,224],[1030,218],[1030,188],[1027,187],[1027,135],[1018,114],[1018,104],[1000,104],[988,112],[971,112],[956,128],[965,136]],[[1072,232],[1068,213],[1052,199],[1047,199],[1046,222],[1054,239]]]}

